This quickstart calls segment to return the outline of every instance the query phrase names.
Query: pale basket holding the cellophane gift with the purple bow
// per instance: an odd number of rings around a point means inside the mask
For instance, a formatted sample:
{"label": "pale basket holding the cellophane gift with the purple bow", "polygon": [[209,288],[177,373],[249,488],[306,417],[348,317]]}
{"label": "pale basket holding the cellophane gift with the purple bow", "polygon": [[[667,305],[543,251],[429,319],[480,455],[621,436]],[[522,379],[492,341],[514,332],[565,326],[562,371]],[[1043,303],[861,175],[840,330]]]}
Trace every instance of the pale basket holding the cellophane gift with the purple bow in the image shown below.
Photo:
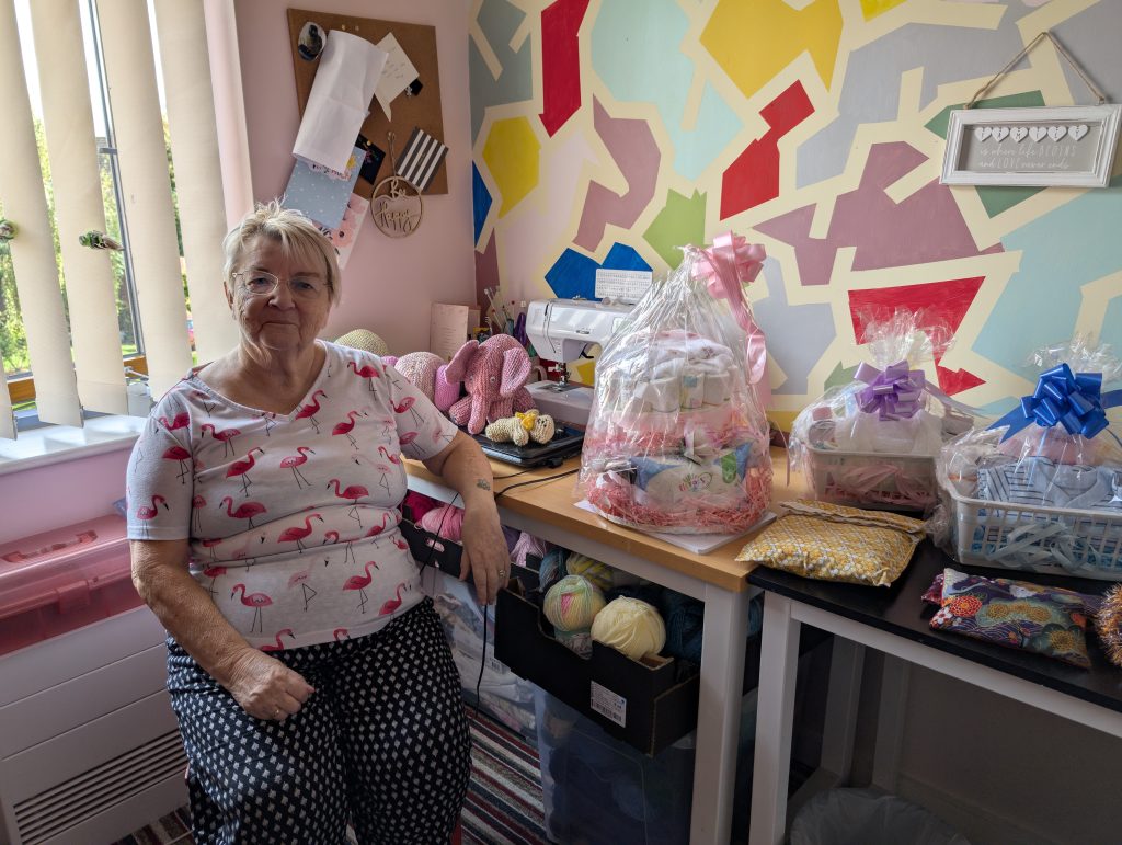
{"label": "pale basket holding the cellophane gift with the purple bow", "polygon": [[935,459],[930,456],[846,452],[803,446],[815,497],[822,502],[923,511],[938,498]]}

